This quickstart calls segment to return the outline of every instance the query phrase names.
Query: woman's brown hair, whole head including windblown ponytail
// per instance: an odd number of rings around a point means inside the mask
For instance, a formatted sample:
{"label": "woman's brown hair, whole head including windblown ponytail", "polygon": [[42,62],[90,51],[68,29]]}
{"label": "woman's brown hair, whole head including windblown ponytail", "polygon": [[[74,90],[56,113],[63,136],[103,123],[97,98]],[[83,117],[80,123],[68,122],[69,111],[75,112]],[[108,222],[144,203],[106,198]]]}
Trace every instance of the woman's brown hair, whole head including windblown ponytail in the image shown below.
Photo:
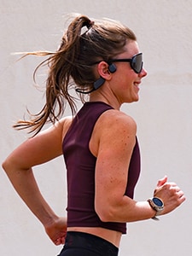
{"label": "woman's brown hair, whole head including windblown ponytail", "polygon": [[[82,28],[87,30],[82,33]],[[72,86],[84,92],[93,88],[96,81],[94,63],[99,60],[108,61],[124,51],[127,40],[136,41],[135,34],[126,26],[113,20],[91,21],[84,15],[73,19],[63,34],[61,45],[57,51],[26,53],[26,55],[49,55],[35,69],[48,65],[49,75],[46,81],[46,103],[42,110],[32,115],[30,121],[20,120],[16,129],[29,128],[37,134],[46,122],[55,123],[63,114],[68,103],[74,115],[76,102],[69,93]],[[25,55],[25,56],[26,56]],[[82,102],[84,96],[79,95]]]}

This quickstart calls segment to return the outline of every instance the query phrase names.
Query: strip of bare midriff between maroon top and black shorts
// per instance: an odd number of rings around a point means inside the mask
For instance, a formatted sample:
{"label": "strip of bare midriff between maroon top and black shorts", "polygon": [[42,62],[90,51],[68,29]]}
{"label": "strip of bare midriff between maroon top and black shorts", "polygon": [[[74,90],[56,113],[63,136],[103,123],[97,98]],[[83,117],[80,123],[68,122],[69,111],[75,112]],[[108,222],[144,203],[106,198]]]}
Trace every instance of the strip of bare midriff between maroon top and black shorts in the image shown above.
{"label": "strip of bare midriff between maroon top and black shorts", "polygon": [[119,231],[107,230],[99,227],[68,227],[67,231],[78,231],[99,236],[113,243],[115,247],[119,247],[120,239],[122,236],[122,233]]}

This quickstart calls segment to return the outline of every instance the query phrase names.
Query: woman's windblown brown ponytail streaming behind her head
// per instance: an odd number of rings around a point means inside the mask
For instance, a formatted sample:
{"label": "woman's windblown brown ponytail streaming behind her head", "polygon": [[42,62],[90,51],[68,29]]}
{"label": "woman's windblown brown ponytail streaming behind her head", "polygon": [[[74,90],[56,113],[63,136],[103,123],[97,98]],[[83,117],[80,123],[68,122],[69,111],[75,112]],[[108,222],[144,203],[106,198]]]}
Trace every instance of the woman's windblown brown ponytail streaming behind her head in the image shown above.
{"label": "woman's windblown brown ponytail streaming behind her head", "polygon": [[47,51],[29,52],[21,57],[23,58],[26,55],[49,55],[49,58],[36,67],[33,79],[35,80],[38,68],[44,65],[49,67],[49,76],[46,81],[46,103],[44,107],[37,114],[27,111],[31,116],[31,120],[19,120],[14,125],[15,129],[29,129],[29,133],[35,132],[35,136],[46,123],[55,124],[55,121],[64,113],[67,103],[73,115],[77,112],[76,98],[68,92],[70,87],[73,87],[70,76],[76,63],[81,30],[84,26],[90,29],[92,24],[92,21],[86,16],[77,17],[68,26],[67,32],[63,35],[61,46],[55,53]]}

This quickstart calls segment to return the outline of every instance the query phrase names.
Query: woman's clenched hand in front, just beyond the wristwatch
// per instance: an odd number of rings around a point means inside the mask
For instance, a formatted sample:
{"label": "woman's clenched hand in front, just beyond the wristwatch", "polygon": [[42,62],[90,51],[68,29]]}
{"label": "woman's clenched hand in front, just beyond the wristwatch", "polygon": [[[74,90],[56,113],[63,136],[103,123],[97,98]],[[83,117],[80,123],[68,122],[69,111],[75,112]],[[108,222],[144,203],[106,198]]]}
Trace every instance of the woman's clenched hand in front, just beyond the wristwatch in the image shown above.
{"label": "woman's clenched hand in front, just beyond the wristwatch", "polygon": [[185,201],[183,191],[176,183],[168,183],[166,176],[158,181],[157,187],[154,189],[154,196],[159,197],[164,202],[164,210],[161,215],[172,212]]}

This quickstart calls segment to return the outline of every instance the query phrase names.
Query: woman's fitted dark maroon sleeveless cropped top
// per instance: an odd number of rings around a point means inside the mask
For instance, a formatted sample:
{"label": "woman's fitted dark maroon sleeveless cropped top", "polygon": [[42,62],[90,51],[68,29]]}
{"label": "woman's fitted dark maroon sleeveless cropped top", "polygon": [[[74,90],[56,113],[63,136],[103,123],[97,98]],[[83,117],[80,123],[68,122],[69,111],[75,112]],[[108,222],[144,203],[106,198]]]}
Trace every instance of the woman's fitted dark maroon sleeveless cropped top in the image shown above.
{"label": "woman's fitted dark maroon sleeveless cropped top", "polygon": [[[89,143],[96,120],[113,109],[104,102],[86,102],[73,119],[64,137],[62,149],[67,167],[67,226],[102,227],[126,233],[125,223],[102,222],[94,207],[96,157]],[[125,195],[133,198],[140,173],[140,152],[136,144],[131,155]]]}

